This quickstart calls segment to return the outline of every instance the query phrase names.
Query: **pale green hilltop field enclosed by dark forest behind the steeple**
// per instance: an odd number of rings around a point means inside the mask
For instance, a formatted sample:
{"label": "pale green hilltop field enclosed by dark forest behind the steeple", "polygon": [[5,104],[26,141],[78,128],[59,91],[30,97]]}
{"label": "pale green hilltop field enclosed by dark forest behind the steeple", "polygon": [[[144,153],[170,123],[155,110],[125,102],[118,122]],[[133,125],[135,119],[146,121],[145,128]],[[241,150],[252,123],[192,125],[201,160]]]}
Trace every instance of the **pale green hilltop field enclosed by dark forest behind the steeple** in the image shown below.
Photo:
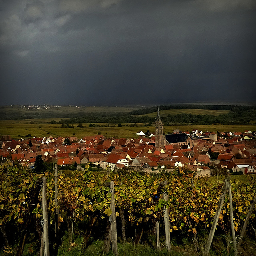
{"label": "pale green hilltop field enclosed by dark forest behind the steeple", "polygon": [[[160,110],[160,116],[166,117],[168,115],[174,116],[178,114],[192,114],[192,115],[213,115],[219,116],[221,114],[228,114],[229,110],[210,110],[210,109],[168,109]],[[156,117],[157,112],[144,114],[140,116]]]}

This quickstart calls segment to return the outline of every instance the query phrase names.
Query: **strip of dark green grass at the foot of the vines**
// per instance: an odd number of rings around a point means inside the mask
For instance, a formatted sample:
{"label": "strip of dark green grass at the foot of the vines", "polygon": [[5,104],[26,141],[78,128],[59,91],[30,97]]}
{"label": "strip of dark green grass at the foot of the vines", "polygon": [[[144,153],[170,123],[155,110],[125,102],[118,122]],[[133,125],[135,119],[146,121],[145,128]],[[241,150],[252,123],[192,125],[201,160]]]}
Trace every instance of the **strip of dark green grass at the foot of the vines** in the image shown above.
{"label": "strip of dark green grass at the foot of the vines", "polygon": [[[204,253],[207,238],[208,234],[199,236],[198,245],[196,245],[196,247],[192,238],[183,238],[181,240],[178,238],[178,243],[171,241],[170,252],[166,250],[165,242],[161,243],[160,250],[157,250],[155,245],[149,245],[147,243],[138,244],[136,246],[133,243],[118,243],[118,254],[120,256],[199,256],[203,255]],[[242,243],[240,252],[242,252],[242,255],[255,255],[255,246],[255,242],[246,237]],[[65,238],[62,241],[62,245],[59,247],[57,256],[114,256],[114,253],[111,251],[111,246],[108,253],[104,252],[103,248],[103,240],[96,240],[92,242],[90,246],[84,248],[81,237],[76,238],[73,246],[68,246],[67,239]],[[210,255],[233,255],[233,246],[230,244],[230,254],[227,254],[227,244],[225,238],[223,236],[214,236]]]}

